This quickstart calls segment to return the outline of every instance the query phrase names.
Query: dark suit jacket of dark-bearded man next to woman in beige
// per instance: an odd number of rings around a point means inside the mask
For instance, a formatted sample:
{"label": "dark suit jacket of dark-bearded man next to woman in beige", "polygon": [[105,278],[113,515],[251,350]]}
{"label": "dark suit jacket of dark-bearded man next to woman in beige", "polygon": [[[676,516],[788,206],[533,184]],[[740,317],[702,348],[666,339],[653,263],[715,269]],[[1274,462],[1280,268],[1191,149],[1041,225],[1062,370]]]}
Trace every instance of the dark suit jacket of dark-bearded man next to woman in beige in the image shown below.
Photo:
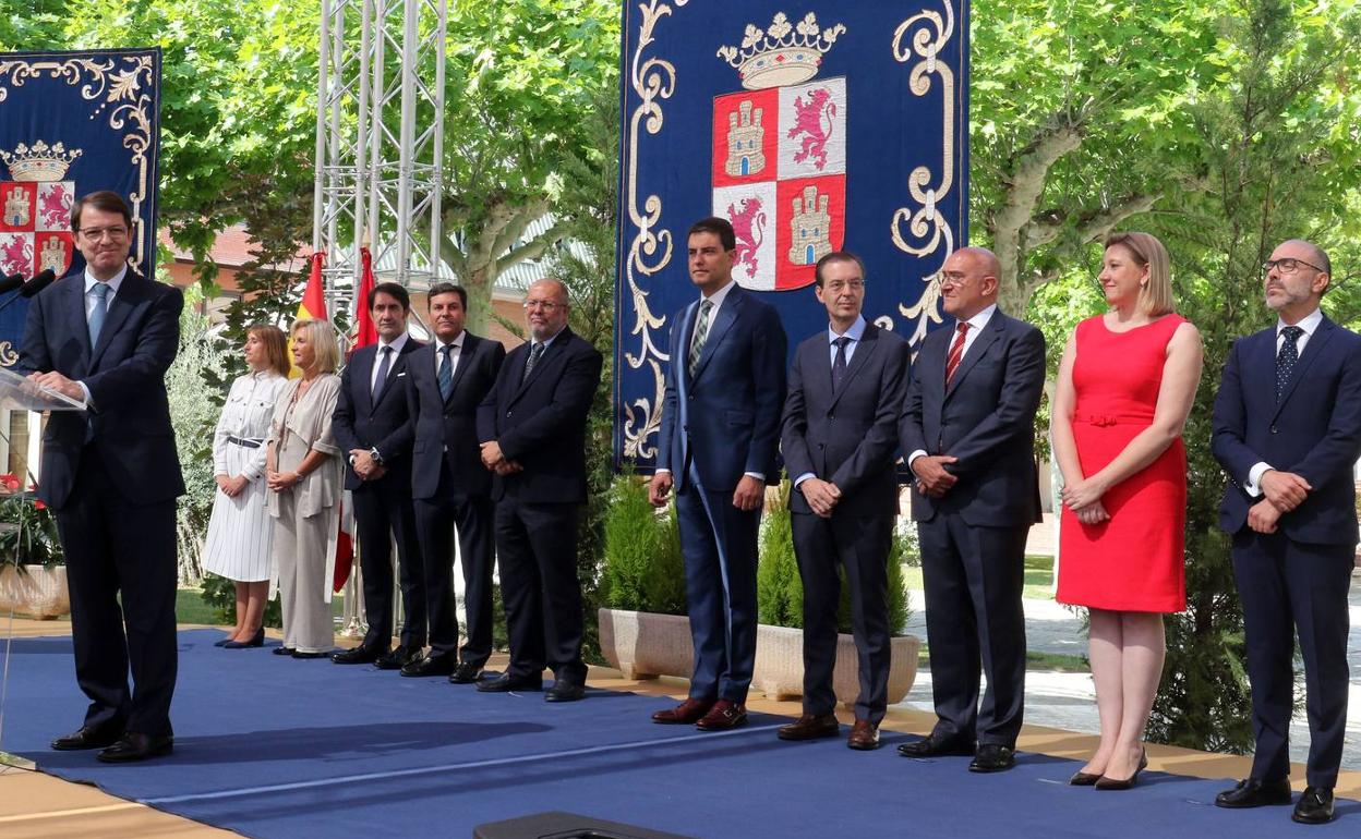
{"label": "dark suit jacket of dark-bearded man next to woman in beige", "polygon": [[340,396],[331,416],[331,430],[346,462],[344,488],[358,490],[363,480],[350,466],[350,451],[354,449],[377,449],[388,477],[406,483],[411,477],[411,415],[407,411],[406,377],[411,354],[422,344],[412,339],[401,345],[401,352],[392,359],[388,370],[388,383],[373,401],[373,366],[378,360],[378,344],[359,347],[350,355],[350,363],[340,371]]}

